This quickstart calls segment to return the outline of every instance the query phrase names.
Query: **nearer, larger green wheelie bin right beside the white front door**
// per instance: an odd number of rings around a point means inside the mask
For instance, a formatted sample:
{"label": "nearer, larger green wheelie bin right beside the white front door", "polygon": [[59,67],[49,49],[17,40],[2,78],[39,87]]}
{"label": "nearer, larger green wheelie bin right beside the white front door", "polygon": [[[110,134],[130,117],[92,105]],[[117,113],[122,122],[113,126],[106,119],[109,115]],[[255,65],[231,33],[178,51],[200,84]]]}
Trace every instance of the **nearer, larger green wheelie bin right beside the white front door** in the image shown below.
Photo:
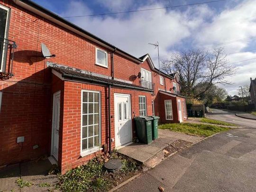
{"label": "nearer, larger green wheelie bin right beside the white front door", "polygon": [[149,144],[152,142],[152,117],[135,117],[136,132],[140,143]]}

